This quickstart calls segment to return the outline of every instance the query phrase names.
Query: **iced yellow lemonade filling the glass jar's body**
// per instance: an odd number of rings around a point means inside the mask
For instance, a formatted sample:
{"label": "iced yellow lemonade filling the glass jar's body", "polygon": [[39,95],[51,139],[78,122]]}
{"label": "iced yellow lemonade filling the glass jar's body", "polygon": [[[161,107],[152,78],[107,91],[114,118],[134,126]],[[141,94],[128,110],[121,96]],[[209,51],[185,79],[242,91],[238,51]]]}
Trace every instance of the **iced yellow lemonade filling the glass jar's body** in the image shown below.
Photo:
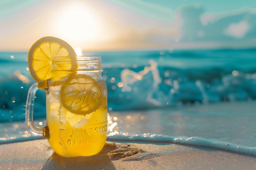
{"label": "iced yellow lemonade filling the glass jar's body", "polygon": [[48,141],[65,157],[97,154],[107,138],[106,84],[103,80],[81,83],[81,78],[50,85],[47,91]]}

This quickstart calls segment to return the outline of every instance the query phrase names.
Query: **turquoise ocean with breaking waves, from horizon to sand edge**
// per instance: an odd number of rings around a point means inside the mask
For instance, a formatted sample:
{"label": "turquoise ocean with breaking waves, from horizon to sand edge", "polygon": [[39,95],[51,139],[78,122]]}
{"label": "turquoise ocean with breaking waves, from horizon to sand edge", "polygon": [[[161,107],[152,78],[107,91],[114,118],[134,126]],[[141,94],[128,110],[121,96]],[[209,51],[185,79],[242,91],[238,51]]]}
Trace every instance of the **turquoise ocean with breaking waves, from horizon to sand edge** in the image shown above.
{"label": "turquoise ocean with breaking waves, from horizon to sand edge", "polygon": [[[100,55],[109,141],[184,144],[256,156],[256,49],[84,52]],[[42,139],[25,126],[34,79],[27,52],[0,52],[0,144]],[[45,92],[34,120],[45,126]]]}

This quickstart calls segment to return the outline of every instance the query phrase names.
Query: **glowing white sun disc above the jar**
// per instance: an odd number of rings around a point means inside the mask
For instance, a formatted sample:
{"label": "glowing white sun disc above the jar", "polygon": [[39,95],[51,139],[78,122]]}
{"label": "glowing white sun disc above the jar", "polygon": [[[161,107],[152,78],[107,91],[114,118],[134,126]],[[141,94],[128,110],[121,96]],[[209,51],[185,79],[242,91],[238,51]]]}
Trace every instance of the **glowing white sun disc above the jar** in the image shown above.
{"label": "glowing white sun disc above the jar", "polygon": [[66,4],[58,15],[58,32],[67,38],[92,40],[97,27],[93,11],[82,2]]}

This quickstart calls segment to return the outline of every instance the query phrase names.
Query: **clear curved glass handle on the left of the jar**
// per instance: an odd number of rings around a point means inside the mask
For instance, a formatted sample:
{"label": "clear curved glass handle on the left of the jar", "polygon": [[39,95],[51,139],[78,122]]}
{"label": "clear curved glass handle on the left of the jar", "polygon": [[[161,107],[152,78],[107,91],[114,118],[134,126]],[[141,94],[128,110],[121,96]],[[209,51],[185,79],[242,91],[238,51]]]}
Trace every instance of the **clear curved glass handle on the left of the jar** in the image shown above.
{"label": "clear curved glass handle on the left of the jar", "polygon": [[36,91],[38,91],[38,82],[32,84],[27,93],[27,103],[26,103],[26,125],[33,135],[45,137],[45,128],[38,128],[33,121],[33,110]]}

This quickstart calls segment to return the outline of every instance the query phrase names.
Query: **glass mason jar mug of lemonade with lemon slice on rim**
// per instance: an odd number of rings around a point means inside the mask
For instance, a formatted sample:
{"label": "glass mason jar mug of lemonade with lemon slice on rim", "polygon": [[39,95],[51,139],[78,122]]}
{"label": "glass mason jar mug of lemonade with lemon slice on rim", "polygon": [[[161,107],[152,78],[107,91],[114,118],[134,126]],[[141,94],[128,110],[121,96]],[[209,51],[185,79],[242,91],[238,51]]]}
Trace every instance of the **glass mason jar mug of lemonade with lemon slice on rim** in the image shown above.
{"label": "glass mason jar mug of lemonade with lemon slice on rim", "polygon": [[[29,71],[36,83],[28,91],[26,124],[34,135],[46,137],[64,157],[90,156],[107,139],[107,87],[101,77],[100,56],[76,56],[72,46],[43,37],[29,50]],[[33,122],[36,91],[46,91],[47,126]]]}

